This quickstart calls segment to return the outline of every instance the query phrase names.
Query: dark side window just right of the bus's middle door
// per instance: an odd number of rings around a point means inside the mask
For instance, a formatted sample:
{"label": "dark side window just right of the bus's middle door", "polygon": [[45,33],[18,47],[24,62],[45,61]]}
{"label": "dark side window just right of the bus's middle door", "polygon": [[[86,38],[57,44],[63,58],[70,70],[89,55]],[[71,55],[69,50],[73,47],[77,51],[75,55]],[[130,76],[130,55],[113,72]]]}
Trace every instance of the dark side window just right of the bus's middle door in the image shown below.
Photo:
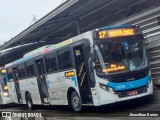
{"label": "dark side window just right of the bus's middle door", "polygon": [[46,72],[54,72],[57,71],[57,60],[54,54],[49,54],[45,56],[45,63],[46,63]]}

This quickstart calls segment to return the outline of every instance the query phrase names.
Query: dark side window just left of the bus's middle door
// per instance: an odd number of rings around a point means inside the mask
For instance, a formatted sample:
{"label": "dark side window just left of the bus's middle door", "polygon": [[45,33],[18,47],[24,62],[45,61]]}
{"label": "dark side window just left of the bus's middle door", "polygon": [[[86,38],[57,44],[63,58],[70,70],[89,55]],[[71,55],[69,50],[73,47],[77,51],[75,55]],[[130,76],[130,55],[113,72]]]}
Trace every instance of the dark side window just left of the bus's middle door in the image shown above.
{"label": "dark side window just left of the bus's middle door", "polygon": [[35,76],[33,61],[26,62],[26,73],[27,73],[27,77]]}

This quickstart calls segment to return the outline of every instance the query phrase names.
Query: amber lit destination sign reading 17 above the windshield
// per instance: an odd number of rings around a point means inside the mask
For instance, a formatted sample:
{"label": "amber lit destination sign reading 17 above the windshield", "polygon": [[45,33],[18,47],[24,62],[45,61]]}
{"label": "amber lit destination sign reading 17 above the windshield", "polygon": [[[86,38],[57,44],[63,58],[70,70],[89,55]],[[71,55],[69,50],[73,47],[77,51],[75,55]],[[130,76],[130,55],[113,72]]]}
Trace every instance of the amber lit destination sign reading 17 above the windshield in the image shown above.
{"label": "amber lit destination sign reading 17 above the windshield", "polygon": [[110,30],[100,30],[98,31],[98,38],[114,38],[114,37],[122,37],[122,36],[131,36],[135,35],[134,28],[118,28],[118,29],[110,29]]}

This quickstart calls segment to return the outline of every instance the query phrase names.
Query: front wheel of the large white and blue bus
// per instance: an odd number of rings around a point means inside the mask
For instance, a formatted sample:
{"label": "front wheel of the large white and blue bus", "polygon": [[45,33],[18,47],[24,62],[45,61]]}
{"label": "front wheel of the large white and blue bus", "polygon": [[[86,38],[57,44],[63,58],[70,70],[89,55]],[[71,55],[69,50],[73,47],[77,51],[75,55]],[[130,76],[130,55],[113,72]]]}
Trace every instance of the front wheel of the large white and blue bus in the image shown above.
{"label": "front wheel of the large white and blue bus", "polygon": [[76,91],[73,91],[71,93],[71,107],[76,112],[79,112],[82,110],[82,102]]}

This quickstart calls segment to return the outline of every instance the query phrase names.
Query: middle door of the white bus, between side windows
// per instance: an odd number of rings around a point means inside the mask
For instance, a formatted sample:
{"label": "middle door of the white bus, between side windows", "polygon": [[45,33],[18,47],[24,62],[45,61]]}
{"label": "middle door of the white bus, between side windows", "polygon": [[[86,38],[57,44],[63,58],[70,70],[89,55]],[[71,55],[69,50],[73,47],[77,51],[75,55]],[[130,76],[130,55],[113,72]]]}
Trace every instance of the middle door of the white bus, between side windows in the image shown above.
{"label": "middle door of the white bus, between side windows", "polygon": [[42,103],[49,103],[49,93],[44,72],[43,59],[36,60],[37,80]]}

